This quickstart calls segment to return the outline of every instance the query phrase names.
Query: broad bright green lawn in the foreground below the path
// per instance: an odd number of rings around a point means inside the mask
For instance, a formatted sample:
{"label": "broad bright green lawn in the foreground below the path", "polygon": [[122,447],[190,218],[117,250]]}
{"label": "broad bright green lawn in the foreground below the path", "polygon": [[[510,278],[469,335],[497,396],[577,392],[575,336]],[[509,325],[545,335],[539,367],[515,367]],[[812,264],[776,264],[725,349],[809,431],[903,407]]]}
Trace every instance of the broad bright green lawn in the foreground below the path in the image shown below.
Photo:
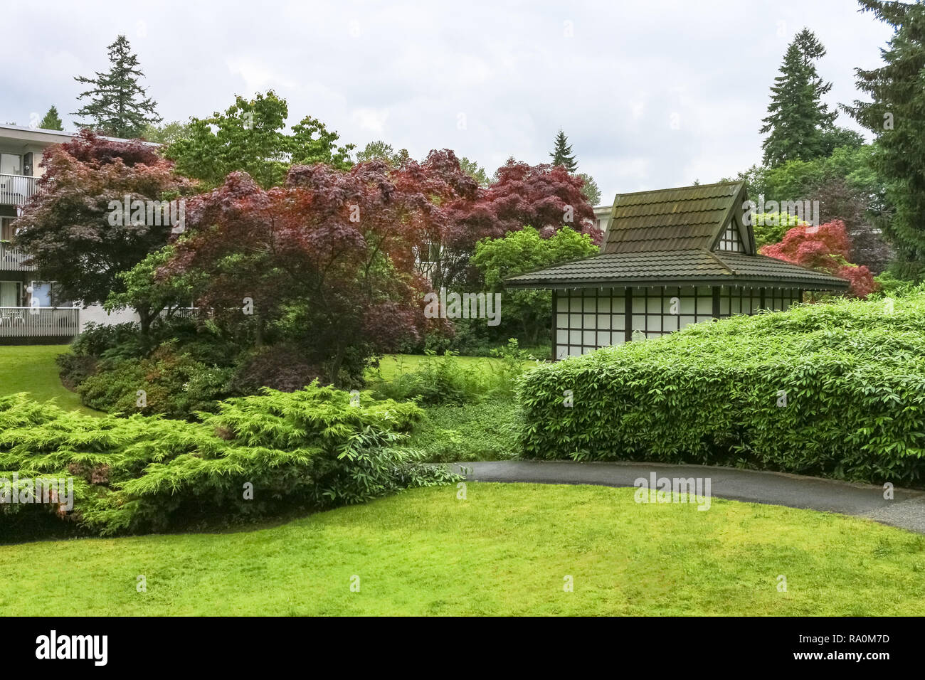
{"label": "broad bright green lawn in the foreground below the path", "polygon": [[[69,614],[853,614],[925,611],[925,537],[632,488],[415,489],[224,534],[0,547],[0,611]],[[137,592],[144,575],[146,592]],[[360,591],[351,592],[359,576]],[[573,592],[563,590],[566,575]],[[778,575],[787,590],[778,590]]]}

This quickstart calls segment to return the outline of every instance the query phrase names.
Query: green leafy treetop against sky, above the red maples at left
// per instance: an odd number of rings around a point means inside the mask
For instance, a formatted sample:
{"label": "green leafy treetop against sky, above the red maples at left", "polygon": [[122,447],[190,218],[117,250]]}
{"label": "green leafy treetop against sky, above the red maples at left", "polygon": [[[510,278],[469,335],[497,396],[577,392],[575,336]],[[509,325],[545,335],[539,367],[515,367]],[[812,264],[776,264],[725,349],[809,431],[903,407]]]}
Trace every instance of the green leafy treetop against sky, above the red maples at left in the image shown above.
{"label": "green leafy treetop against sky, above the red maples at left", "polygon": [[293,165],[351,167],[353,144],[338,146],[338,133],[313,117],[302,118],[286,134],[288,116],[286,100],[272,90],[250,100],[238,96],[225,113],[191,118],[185,136],[170,144],[165,155],[177,164],[179,173],[210,187],[236,171],[269,188],[282,184]]}

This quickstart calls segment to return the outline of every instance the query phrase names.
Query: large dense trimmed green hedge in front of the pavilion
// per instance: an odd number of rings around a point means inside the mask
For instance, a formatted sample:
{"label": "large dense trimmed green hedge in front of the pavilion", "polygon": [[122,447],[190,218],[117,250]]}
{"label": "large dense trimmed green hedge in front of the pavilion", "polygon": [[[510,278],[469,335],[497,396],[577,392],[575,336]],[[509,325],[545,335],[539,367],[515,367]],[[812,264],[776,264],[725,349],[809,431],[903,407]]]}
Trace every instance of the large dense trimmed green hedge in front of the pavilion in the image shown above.
{"label": "large dense trimmed green hedge in front of the pavilion", "polygon": [[922,486],[925,292],[699,324],[540,366],[519,395],[529,457]]}

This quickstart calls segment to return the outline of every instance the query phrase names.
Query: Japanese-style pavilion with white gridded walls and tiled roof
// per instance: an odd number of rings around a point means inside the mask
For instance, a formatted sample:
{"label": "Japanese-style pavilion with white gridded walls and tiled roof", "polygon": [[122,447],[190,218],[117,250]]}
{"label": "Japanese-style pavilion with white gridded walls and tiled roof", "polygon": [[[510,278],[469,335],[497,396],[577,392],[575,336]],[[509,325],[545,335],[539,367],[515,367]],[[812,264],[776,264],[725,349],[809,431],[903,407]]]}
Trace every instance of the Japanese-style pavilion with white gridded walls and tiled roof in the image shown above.
{"label": "Japanese-style pavilion with white gridded walls and tiled roof", "polygon": [[507,286],[552,290],[557,359],[847,290],[844,278],[760,255],[745,205],[743,182],[619,194],[600,254]]}

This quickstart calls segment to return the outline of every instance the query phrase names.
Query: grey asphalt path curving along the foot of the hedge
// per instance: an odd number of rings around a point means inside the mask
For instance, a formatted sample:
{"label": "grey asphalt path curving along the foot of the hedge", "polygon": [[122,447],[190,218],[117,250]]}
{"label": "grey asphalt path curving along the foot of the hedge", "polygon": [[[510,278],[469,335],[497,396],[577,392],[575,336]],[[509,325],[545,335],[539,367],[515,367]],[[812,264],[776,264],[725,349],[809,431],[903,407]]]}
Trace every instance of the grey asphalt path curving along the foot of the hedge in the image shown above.
{"label": "grey asphalt path curving along the foot of the hedge", "polygon": [[732,467],[573,461],[491,461],[451,467],[475,482],[632,487],[635,479],[648,479],[652,472],[657,477],[709,477],[710,495],[717,498],[854,514],[925,534],[925,491],[907,488],[894,488],[893,500],[887,501],[882,487]]}

